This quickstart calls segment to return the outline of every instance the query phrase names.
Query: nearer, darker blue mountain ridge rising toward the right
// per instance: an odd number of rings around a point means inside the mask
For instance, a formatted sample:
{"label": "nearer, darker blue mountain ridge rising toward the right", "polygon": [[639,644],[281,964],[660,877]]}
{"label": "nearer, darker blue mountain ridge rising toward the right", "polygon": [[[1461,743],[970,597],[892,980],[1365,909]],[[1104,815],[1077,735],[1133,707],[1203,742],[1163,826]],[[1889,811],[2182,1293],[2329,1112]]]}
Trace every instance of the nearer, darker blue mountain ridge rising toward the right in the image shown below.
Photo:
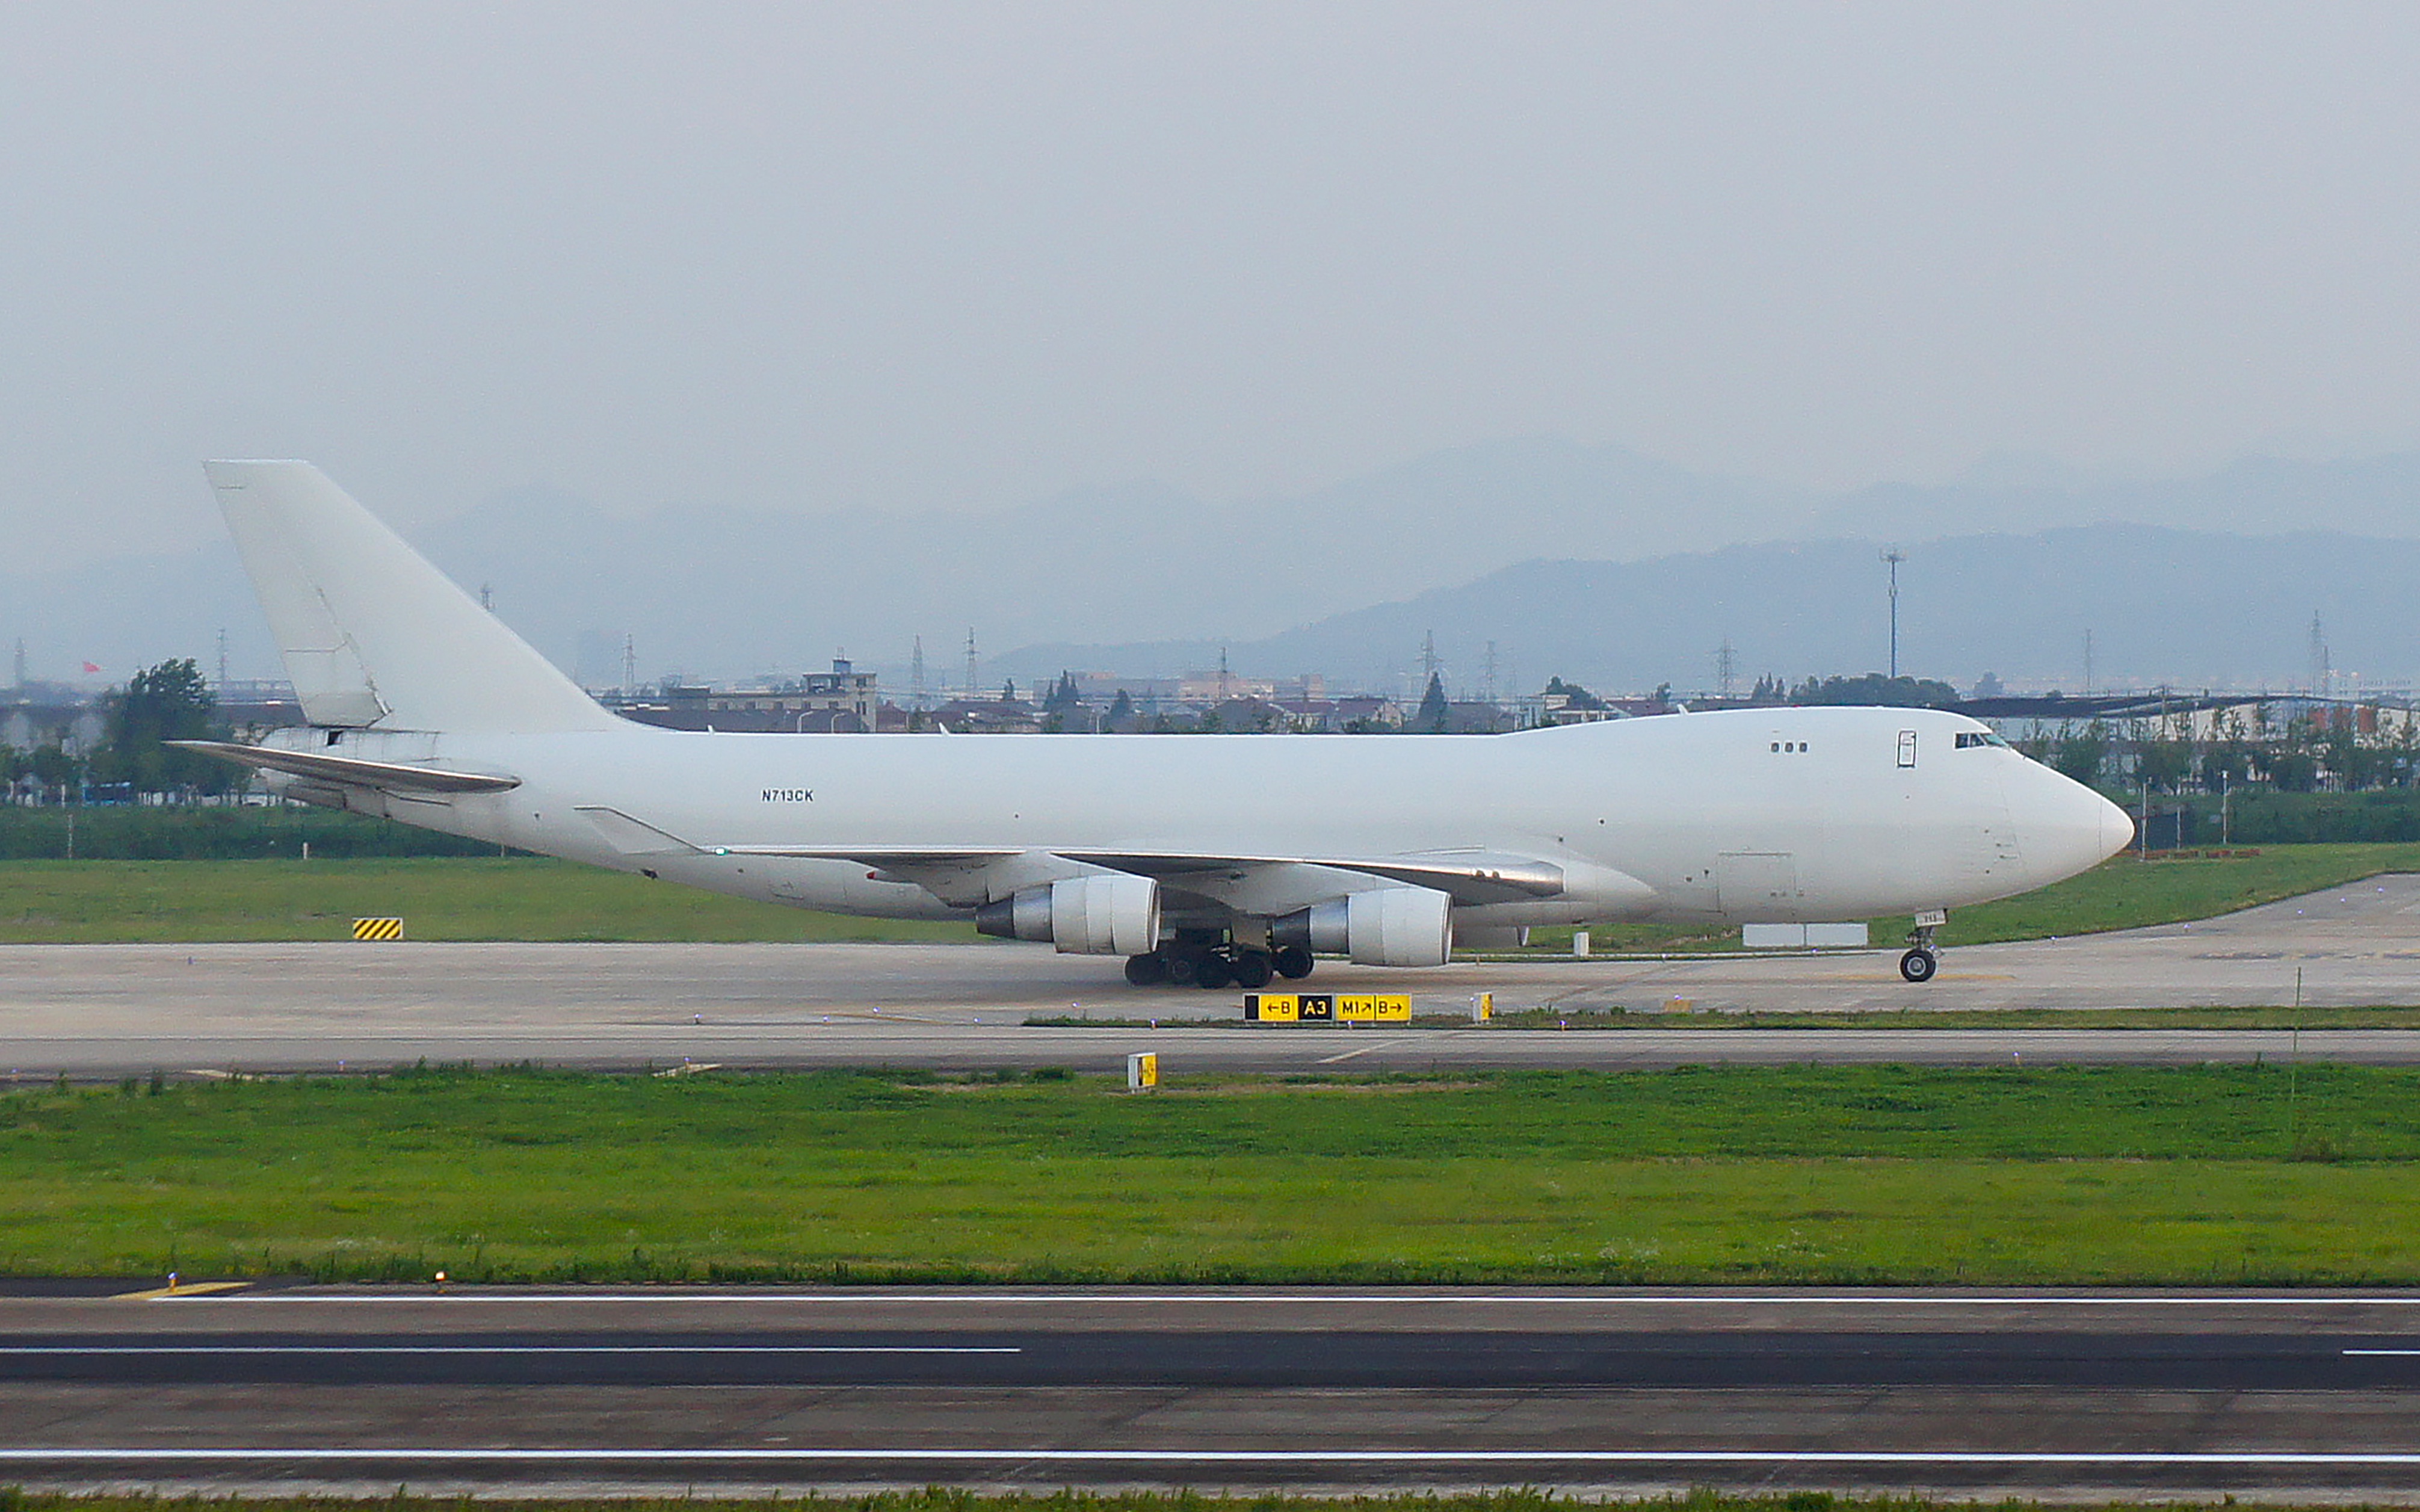
{"label": "nearer, darker blue mountain ridge rising toward the right", "polygon": [[[2420,542],[2333,532],[2217,535],[2093,525],[1972,535],[1907,549],[1900,668],[1972,687],[2219,687],[2311,682],[2311,619],[2340,687],[2410,685],[2420,665]],[[2086,634],[2093,665],[2086,670]],[[1329,677],[1416,692],[1421,651],[1454,689],[1549,675],[1588,687],[1706,692],[1718,648],[1735,687],[1759,675],[1883,670],[1888,569],[1856,539],[1774,542],[1650,561],[1525,561],[1454,588],[1370,605],[1227,646],[1031,646],[1002,673],[1200,668]]]}

